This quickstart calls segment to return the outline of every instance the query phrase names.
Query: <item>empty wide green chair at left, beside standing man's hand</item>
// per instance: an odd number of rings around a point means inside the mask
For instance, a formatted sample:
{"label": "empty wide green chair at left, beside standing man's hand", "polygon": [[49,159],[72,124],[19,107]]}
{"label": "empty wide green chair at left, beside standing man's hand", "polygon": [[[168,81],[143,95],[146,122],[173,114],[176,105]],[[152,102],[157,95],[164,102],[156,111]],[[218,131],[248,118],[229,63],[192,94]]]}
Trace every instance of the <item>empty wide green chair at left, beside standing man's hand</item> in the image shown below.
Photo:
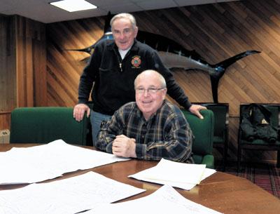
{"label": "empty wide green chair at left, beside standing man's hand", "polygon": [[20,107],[10,119],[10,142],[48,143],[62,139],[66,143],[86,145],[87,120],[73,119],[71,107]]}

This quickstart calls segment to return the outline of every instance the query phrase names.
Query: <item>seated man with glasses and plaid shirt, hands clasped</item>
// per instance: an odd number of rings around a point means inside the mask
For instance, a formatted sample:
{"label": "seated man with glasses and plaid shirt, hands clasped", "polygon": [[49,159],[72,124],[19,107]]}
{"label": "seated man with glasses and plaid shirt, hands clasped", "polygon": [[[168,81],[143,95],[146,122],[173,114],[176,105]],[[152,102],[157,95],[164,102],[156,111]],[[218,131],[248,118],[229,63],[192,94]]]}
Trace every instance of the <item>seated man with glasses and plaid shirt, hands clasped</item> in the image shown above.
{"label": "seated man with glasses and plaid shirt, hands clasped", "polygon": [[146,70],[134,87],[136,102],[123,105],[102,124],[97,148],[116,156],[193,163],[193,132],[179,107],[165,100],[164,77]]}

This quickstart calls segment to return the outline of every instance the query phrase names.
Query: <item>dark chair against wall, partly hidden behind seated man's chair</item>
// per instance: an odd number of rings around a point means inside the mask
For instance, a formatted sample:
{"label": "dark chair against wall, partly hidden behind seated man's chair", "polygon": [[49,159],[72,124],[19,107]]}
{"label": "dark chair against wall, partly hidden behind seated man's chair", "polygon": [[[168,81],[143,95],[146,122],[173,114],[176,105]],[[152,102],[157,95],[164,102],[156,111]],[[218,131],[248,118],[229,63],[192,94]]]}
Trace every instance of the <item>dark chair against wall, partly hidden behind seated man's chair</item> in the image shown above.
{"label": "dark chair against wall, partly hidden behind seated man's chair", "polygon": [[228,157],[229,104],[213,102],[200,102],[197,104],[204,105],[214,113],[215,126],[213,147],[223,149],[223,171],[225,171]]}

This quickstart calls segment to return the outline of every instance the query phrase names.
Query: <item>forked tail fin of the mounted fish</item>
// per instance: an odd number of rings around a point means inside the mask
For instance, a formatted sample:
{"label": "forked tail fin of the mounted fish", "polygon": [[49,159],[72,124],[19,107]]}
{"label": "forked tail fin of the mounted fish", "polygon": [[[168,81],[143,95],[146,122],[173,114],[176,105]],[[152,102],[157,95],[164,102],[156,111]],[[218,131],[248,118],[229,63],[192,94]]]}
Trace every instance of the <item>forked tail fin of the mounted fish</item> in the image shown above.
{"label": "forked tail fin of the mounted fish", "polygon": [[260,51],[245,51],[214,65],[215,72],[210,73],[212,96],[214,102],[218,103],[218,82],[220,81],[223,74],[225,74],[225,69],[235,63],[237,60],[241,60],[242,58],[255,53],[260,53]]}

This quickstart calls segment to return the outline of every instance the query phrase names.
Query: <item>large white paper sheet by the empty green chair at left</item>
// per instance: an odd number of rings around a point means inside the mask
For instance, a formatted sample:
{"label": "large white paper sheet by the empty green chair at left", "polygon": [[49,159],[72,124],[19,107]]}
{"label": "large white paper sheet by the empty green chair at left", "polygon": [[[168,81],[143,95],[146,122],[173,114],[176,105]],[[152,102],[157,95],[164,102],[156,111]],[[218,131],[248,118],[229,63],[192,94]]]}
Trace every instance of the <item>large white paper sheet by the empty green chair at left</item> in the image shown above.
{"label": "large white paper sheet by the empty green chair at left", "polygon": [[69,145],[63,140],[34,147],[14,147],[0,152],[0,185],[40,182],[79,169],[126,160],[106,152]]}

